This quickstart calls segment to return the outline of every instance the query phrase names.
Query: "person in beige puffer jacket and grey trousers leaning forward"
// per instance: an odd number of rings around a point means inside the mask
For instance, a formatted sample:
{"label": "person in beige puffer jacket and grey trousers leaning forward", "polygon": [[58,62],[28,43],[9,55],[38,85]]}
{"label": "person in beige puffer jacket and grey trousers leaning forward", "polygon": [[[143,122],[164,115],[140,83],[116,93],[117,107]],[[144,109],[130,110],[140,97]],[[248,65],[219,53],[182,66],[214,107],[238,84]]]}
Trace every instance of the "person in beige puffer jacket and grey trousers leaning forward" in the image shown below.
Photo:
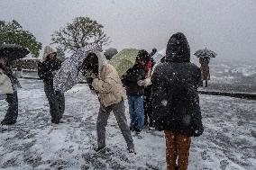
{"label": "person in beige puffer jacket and grey trousers leaning forward", "polygon": [[125,117],[126,95],[117,71],[112,65],[106,63],[100,54],[96,53],[89,53],[80,69],[83,70],[91,91],[97,94],[100,103],[96,121],[97,148],[95,150],[97,152],[105,150],[105,126],[110,112],[114,112],[128,151],[135,153],[133,138]]}

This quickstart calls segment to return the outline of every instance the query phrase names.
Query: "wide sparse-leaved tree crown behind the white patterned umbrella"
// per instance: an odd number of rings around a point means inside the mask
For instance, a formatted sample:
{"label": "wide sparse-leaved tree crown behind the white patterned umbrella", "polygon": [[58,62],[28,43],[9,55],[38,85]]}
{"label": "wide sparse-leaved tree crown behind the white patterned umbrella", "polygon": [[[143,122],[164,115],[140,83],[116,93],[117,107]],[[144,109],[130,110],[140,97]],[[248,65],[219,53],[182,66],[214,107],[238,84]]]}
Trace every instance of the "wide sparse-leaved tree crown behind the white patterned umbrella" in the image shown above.
{"label": "wide sparse-leaved tree crown behind the white patterned umbrella", "polygon": [[109,43],[109,37],[103,28],[103,25],[89,17],[77,17],[51,35],[51,44],[58,44],[59,49],[68,52],[77,51],[91,43],[106,45]]}

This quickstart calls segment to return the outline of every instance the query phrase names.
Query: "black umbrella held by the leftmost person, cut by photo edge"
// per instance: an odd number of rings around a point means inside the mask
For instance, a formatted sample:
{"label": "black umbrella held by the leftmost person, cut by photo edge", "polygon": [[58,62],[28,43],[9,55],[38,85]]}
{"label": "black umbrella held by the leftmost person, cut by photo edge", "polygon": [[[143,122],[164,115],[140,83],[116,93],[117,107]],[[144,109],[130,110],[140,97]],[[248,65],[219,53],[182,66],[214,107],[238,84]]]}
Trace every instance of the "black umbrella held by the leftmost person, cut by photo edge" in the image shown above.
{"label": "black umbrella held by the leftmost person, cut by photo edge", "polygon": [[16,59],[24,58],[30,51],[19,45],[15,44],[2,44],[0,45],[0,58],[4,58],[5,61],[11,62]]}

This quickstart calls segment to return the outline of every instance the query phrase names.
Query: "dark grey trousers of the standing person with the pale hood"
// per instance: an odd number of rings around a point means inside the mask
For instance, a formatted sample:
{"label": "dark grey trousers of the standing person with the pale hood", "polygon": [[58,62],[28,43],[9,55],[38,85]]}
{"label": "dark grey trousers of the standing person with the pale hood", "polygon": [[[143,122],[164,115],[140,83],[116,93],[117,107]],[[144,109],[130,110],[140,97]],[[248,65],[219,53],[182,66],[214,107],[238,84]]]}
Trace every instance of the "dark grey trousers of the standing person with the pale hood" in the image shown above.
{"label": "dark grey trousers of the standing person with the pale hood", "polygon": [[65,112],[65,97],[63,93],[55,91],[52,85],[44,84],[44,92],[50,105],[51,122],[59,123]]}

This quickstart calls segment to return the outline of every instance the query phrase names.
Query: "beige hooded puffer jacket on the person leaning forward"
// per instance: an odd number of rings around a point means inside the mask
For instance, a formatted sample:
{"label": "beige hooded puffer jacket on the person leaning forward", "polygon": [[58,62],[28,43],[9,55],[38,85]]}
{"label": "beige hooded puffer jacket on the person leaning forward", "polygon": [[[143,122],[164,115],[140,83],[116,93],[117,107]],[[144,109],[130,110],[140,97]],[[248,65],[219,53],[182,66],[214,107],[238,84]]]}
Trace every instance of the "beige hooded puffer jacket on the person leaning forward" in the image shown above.
{"label": "beige hooded puffer jacket on the person leaning forward", "polygon": [[101,67],[100,76],[94,79],[92,85],[98,93],[100,103],[105,107],[126,99],[121,79],[110,64]]}

